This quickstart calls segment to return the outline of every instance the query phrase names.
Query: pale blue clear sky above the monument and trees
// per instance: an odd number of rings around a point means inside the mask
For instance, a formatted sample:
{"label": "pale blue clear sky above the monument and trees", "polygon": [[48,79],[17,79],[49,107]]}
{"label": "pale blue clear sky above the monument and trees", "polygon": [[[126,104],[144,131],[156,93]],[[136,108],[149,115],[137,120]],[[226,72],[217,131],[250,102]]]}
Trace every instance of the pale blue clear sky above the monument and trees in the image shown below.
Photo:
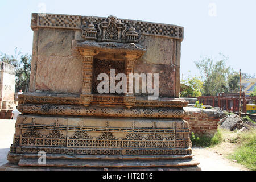
{"label": "pale blue clear sky above the monument and trees", "polygon": [[0,52],[32,52],[31,13],[109,16],[177,24],[184,27],[181,69],[184,76],[199,76],[194,61],[201,56],[228,56],[227,64],[256,73],[256,1],[0,1]]}

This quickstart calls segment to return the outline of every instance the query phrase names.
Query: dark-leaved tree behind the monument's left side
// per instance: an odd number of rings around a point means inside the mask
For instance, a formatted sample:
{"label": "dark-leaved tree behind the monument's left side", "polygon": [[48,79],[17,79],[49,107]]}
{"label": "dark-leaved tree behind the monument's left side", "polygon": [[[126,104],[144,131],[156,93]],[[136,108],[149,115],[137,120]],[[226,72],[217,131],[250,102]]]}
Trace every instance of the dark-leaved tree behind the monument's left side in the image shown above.
{"label": "dark-leaved tree behind the monument's left side", "polygon": [[31,55],[28,53],[22,55],[16,48],[14,55],[1,54],[1,61],[14,65],[16,69],[16,91],[22,89],[23,92],[27,92],[30,82]]}

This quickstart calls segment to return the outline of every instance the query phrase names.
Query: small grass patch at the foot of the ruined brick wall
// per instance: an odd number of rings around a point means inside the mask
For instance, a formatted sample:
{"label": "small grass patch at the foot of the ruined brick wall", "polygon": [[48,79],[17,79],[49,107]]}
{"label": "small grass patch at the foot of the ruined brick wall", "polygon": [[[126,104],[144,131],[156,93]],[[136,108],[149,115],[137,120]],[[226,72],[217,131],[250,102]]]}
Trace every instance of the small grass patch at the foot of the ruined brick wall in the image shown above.
{"label": "small grass patch at the foot of the ruined brick wall", "polygon": [[213,137],[208,137],[205,135],[195,135],[193,132],[191,134],[191,142],[193,146],[197,147],[210,147],[222,142],[222,133],[219,129],[214,134]]}

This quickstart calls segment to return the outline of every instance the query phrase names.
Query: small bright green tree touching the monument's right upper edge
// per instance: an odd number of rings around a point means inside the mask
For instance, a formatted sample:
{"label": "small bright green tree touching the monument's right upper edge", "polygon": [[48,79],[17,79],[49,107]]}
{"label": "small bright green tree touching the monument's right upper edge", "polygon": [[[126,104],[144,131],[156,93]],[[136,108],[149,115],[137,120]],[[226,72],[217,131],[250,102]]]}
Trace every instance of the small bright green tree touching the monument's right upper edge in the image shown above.
{"label": "small bright green tree touching the monument's right upper edge", "polygon": [[189,77],[187,80],[181,80],[181,83],[187,87],[180,93],[180,97],[199,97],[202,95],[203,82],[200,77]]}

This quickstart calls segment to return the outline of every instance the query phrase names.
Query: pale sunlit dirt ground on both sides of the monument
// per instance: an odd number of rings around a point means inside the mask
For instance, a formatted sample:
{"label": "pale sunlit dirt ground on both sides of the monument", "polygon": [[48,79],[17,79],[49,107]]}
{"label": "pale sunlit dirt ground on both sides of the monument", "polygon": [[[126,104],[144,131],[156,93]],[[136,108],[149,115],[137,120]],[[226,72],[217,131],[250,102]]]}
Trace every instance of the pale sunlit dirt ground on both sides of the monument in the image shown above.
{"label": "pale sunlit dirt ground on both sides of the monument", "polygon": [[[13,143],[15,133],[15,120],[0,119],[0,166],[7,163],[7,154]],[[237,147],[229,141],[236,133],[225,132],[225,140],[212,148],[193,147],[193,158],[200,162],[199,167],[203,171],[240,171],[248,170],[246,167],[226,159]]]}

